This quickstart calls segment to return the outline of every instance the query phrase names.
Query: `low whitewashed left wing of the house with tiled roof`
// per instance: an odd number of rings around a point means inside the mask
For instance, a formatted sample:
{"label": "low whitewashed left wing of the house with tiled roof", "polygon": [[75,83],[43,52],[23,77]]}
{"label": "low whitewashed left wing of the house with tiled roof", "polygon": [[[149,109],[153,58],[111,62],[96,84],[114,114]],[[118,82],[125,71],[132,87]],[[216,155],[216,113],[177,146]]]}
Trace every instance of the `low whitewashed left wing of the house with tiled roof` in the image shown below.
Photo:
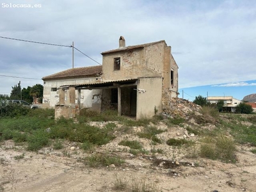
{"label": "low whitewashed left wing of the house with tiled roof", "polygon": [[[83,84],[83,83],[96,83],[101,81],[102,66],[93,67],[79,67],[70,68],[51,76],[43,77],[44,80],[44,98],[43,107],[44,108],[54,108],[56,104],[60,102],[59,88],[65,84]],[[65,90],[65,97],[63,104],[68,105],[70,99],[68,97],[69,90]],[[97,102],[95,95],[100,95],[101,90],[83,90],[80,97],[81,108],[92,108],[93,102]],[[76,90],[76,95],[77,95]],[[91,99],[93,98],[93,99]],[[78,103],[78,98],[76,97],[76,104]]]}

